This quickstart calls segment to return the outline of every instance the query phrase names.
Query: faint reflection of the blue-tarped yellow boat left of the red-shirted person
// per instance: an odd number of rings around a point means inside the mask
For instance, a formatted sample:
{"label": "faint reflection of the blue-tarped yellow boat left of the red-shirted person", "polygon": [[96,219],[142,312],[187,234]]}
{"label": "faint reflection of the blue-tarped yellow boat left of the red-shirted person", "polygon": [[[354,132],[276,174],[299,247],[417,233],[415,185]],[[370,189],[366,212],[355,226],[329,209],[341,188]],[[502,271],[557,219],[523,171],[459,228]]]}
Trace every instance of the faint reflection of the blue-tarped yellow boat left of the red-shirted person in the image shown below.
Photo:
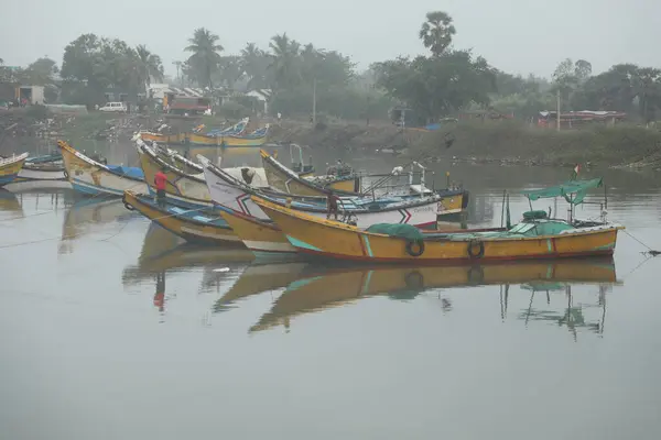
{"label": "faint reflection of the blue-tarped yellow boat left of the red-shirted person", "polygon": [[104,231],[110,223],[124,223],[138,217],[139,215],[127,210],[121,200],[115,198],[79,199],[66,212],[57,253],[69,254],[74,251],[74,242],[79,238]]}

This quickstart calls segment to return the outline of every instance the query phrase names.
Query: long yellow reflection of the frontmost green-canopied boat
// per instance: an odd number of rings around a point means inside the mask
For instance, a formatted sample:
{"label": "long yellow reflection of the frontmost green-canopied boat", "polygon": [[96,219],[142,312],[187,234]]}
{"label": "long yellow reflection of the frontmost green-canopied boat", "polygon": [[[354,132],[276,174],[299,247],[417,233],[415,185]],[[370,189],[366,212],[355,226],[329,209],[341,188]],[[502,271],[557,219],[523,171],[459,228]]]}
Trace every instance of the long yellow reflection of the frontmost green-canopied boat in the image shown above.
{"label": "long yellow reflection of the frontmost green-canopied boat", "polygon": [[[262,331],[284,324],[289,329],[292,318],[333,307],[345,306],[366,297],[386,296],[409,300],[434,288],[460,288],[499,285],[507,316],[510,285],[556,283],[571,289],[572,284],[609,285],[617,283],[611,257],[571,261],[522,262],[489,264],[483,266],[373,266],[373,267],[319,267],[308,266],[299,278],[273,302],[250,332]],[[538,284],[539,286],[539,284]],[[533,293],[534,295],[534,293]],[[604,295],[600,295],[604,298]],[[441,298],[442,308],[451,310],[451,299]],[[600,299],[602,300],[602,299]],[[571,302],[571,299],[570,299]],[[602,304],[602,302],[600,302]],[[603,301],[605,307],[605,300]],[[581,318],[575,308],[568,316],[557,317],[559,323],[577,326]],[[534,318],[533,318],[534,317]],[[553,319],[554,315],[531,308],[530,319]],[[599,324],[603,329],[603,322]]]}

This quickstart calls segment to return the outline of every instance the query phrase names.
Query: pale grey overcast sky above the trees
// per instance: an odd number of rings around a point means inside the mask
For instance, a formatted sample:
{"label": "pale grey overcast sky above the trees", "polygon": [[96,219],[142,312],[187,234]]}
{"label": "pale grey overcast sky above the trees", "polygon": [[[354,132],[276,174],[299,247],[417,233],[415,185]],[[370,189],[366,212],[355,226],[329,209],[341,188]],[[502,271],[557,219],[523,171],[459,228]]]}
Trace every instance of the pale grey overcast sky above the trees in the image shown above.
{"label": "pale grey overcast sky above the trees", "polygon": [[247,42],[268,47],[286,32],[302,43],[336,50],[359,64],[424,53],[418,31],[429,11],[448,12],[457,48],[473,48],[510,73],[550,76],[566,57],[595,73],[616,63],[661,67],[661,0],[1,0],[0,58],[26,65],[82,33],[145,44],[166,73],[195,28],[220,36],[227,53]]}

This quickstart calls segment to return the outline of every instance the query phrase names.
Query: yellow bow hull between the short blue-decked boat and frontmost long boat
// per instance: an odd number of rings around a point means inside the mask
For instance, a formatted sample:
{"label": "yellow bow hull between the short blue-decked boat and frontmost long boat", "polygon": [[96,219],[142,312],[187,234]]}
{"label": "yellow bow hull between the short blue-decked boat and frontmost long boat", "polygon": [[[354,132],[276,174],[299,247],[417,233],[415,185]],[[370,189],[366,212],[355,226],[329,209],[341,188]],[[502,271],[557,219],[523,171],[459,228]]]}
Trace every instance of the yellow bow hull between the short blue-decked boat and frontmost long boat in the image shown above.
{"label": "yellow bow hull between the short blue-decked boat and frontmost long boat", "polygon": [[[241,239],[246,248],[256,254],[296,253],[275,224],[266,223],[240,212],[223,210],[220,215],[231,230]],[[264,255],[261,255],[264,256]]]}

